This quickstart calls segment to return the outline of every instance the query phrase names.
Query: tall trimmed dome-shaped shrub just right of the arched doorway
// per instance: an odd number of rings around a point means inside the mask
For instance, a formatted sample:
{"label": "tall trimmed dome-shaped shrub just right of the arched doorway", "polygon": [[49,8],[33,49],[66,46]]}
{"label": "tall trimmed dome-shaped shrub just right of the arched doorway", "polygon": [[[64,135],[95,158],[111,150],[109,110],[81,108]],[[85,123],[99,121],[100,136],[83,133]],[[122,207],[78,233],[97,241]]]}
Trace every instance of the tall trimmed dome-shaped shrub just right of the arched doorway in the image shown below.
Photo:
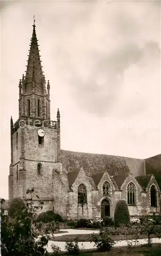
{"label": "tall trimmed dome-shaped shrub just right of the arched doorway", "polygon": [[130,224],[130,214],[125,200],[118,201],[114,211],[114,226],[119,227],[122,224]]}

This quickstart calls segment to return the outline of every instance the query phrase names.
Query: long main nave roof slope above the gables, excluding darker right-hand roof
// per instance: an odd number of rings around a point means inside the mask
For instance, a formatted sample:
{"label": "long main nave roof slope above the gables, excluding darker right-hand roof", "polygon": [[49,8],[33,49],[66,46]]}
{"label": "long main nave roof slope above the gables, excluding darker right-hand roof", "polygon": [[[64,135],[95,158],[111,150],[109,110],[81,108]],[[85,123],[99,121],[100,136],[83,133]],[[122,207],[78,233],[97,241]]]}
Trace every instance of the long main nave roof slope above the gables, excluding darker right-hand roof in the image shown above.
{"label": "long main nave roof slope above the gables, excluding darker right-hand roof", "polygon": [[135,175],[136,169],[144,174],[144,160],[141,159],[61,150],[60,161],[66,173],[83,167],[87,176],[104,173],[105,171],[110,176],[129,172]]}

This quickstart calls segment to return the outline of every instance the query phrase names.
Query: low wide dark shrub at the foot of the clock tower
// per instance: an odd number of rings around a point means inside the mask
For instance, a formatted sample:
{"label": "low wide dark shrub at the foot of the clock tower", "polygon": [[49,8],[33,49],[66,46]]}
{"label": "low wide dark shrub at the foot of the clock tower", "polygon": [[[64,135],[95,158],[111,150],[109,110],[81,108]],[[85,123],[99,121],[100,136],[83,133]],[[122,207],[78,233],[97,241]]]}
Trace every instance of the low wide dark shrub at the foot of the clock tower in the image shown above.
{"label": "low wide dark shrub at the foot of the clock tower", "polygon": [[49,223],[53,221],[64,222],[61,216],[59,214],[55,214],[55,212],[52,210],[41,212],[41,214],[39,214],[39,216],[37,217],[36,221],[43,223]]}

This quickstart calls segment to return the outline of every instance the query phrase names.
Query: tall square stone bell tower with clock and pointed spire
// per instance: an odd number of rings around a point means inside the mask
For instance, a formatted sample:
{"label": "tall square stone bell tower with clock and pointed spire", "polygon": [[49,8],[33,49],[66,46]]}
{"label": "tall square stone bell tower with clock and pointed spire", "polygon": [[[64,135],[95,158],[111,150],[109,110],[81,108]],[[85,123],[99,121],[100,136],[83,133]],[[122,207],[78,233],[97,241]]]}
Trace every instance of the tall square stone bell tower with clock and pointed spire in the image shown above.
{"label": "tall square stone bell tower with clock and pointed spire", "polygon": [[19,80],[19,118],[11,117],[9,200],[28,199],[34,188],[41,200],[52,203],[53,169],[61,173],[60,112],[50,115],[50,82],[46,83],[36,37],[35,19],[26,75]]}

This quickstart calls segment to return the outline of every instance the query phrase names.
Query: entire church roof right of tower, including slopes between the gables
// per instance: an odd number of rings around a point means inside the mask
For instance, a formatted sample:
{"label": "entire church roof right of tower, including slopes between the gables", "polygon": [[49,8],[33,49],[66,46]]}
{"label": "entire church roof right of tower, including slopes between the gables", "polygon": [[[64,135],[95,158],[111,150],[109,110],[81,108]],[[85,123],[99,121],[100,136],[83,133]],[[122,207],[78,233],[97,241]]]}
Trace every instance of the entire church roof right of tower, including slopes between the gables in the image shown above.
{"label": "entire church roof right of tower, including slopes between the gables", "polygon": [[[144,159],[65,150],[60,152],[62,170],[64,174],[67,174],[66,184],[68,181],[68,186],[73,185],[80,168],[83,167],[88,176],[88,181],[93,187],[97,186],[103,174],[108,172],[118,187],[121,187],[129,173],[132,173],[133,176],[136,176],[137,182],[145,188],[150,181],[150,174],[154,174],[161,189],[161,155],[145,159],[147,175],[144,176]],[[141,176],[137,176],[137,174],[141,174]]]}

